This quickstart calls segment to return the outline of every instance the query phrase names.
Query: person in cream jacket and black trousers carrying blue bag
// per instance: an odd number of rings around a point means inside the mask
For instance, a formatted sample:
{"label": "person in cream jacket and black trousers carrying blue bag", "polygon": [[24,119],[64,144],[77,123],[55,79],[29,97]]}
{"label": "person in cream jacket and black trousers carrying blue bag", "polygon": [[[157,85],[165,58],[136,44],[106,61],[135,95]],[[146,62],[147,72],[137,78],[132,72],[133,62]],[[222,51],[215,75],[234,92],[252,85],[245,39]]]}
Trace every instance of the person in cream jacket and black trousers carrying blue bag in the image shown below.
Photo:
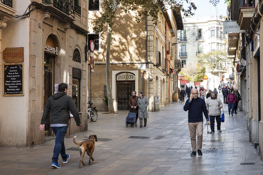
{"label": "person in cream jacket and black trousers carrying blue bag", "polygon": [[210,134],[215,133],[215,119],[217,124],[217,130],[218,132],[221,131],[221,108],[223,107],[223,104],[220,100],[220,98],[216,97],[215,92],[211,93],[211,96],[205,101],[206,108],[208,109],[208,114],[210,118]]}

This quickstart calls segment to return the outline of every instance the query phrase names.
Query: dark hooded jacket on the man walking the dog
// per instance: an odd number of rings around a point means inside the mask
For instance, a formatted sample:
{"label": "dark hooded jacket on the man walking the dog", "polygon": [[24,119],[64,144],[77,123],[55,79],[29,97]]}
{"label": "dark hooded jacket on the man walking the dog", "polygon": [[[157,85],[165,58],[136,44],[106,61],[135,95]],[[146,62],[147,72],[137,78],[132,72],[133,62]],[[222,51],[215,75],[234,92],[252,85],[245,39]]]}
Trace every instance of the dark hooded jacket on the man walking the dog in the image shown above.
{"label": "dark hooded jacket on the man walking the dog", "polygon": [[77,125],[80,125],[79,111],[72,99],[65,92],[57,92],[48,98],[42,115],[41,124],[47,123],[50,111],[50,124],[69,124],[69,111],[74,116]]}

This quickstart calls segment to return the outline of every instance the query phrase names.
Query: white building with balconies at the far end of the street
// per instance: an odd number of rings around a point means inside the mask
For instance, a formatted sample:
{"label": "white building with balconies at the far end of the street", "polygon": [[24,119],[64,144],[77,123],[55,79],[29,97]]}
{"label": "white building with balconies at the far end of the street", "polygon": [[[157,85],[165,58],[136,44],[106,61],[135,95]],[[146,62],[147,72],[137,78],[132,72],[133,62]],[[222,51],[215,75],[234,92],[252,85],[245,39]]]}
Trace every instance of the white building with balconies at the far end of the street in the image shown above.
{"label": "white building with balconies at the far end of the street", "polygon": [[[178,30],[178,36],[181,38],[178,44],[178,58],[182,62],[182,67],[196,60],[196,55],[199,53],[207,53],[213,50],[226,50],[224,45],[226,35],[223,34],[223,16],[209,17],[184,17],[184,30]],[[178,86],[185,87],[204,86],[205,89],[218,88],[222,73],[225,70],[219,70],[216,73],[206,71],[206,76],[203,82],[185,81],[183,75],[179,75]]]}

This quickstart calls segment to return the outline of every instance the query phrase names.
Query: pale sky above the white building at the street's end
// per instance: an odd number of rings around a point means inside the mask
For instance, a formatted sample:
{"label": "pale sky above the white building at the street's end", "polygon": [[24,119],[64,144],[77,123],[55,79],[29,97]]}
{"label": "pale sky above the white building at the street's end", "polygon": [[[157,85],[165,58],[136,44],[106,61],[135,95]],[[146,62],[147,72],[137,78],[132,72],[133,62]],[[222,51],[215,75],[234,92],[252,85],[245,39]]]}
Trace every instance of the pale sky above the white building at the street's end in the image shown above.
{"label": "pale sky above the white building at the street's end", "polygon": [[[223,15],[226,16],[227,11],[227,5],[224,3],[224,0],[219,0],[219,3],[217,3],[217,6],[213,6],[209,2],[209,0],[190,0],[191,2],[195,3],[195,6],[197,9],[193,12],[195,13],[194,17],[206,17],[206,16],[216,16],[217,15]],[[215,0],[212,0],[215,1]]]}

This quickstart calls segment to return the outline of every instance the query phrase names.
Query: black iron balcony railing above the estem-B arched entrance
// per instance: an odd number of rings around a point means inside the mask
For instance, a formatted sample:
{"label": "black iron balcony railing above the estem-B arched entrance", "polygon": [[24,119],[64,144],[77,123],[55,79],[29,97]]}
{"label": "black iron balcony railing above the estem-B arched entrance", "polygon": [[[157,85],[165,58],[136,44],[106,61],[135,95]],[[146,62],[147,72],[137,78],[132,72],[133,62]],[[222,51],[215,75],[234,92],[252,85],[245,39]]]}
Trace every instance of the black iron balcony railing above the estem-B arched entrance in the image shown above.
{"label": "black iron balcony railing above the estem-B arched entrance", "polygon": [[73,18],[75,13],[80,14],[80,6],[74,4],[74,0],[42,0],[42,2],[46,5],[53,5],[53,7]]}

